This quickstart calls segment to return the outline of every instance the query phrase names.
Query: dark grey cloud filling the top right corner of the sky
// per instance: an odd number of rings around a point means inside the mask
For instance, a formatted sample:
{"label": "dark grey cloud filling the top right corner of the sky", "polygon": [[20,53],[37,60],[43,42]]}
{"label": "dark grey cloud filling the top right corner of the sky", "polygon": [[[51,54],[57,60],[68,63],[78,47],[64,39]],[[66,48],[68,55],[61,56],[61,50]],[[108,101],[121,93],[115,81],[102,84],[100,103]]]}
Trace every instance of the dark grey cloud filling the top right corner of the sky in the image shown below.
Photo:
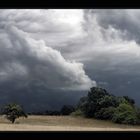
{"label": "dark grey cloud filling the top right corner of the sky", "polygon": [[109,28],[112,26],[117,30],[125,33],[122,35],[123,39],[135,40],[140,43],[140,11],[137,9],[116,9],[116,10],[87,10],[88,14],[96,16],[98,23],[104,27]]}

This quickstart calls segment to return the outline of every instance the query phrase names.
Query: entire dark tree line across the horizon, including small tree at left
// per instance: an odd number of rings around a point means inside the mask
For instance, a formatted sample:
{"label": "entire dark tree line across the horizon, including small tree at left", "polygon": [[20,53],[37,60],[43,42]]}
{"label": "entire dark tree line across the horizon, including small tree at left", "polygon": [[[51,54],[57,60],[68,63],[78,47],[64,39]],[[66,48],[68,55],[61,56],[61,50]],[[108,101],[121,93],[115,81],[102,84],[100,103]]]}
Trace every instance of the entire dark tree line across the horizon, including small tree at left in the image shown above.
{"label": "entire dark tree line across the horizon, including small tree at left", "polygon": [[140,124],[140,108],[135,105],[134,99],[128,96],[114,96],[100,87],[90,88],[87,96],[80,98],[76,106],[64,105],[59,111],[46,110],[27,115],[20,105],[12,103],[2,108],[1,114],[6,115],[12,123],[17,118],[27,118],[28,115],[73,115],[120,124]]}

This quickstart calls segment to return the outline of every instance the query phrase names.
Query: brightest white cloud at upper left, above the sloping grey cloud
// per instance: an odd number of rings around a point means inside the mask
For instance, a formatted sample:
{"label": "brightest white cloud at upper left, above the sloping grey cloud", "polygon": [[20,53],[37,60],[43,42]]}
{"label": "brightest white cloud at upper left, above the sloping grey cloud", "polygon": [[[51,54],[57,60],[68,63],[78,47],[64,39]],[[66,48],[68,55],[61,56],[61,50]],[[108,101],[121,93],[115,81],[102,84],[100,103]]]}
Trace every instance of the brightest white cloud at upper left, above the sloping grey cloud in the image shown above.
{"label": "brightest white cloud at upper left, above the sloping grey cloud", "polygon": [[83,34],[82,10],[1,10],[0,21],[0,27],[13,24],[50,45],[79,38]]}

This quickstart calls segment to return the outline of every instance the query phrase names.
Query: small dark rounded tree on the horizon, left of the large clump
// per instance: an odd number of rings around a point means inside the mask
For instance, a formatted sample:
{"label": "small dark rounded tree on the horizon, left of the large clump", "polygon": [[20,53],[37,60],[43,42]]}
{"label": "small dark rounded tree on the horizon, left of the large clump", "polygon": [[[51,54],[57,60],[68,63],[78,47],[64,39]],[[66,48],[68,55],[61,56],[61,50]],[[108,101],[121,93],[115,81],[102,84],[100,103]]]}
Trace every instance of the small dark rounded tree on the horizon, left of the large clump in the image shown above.
{"label": "small dark rounded tree on the horizon, left of the large clump", "polygon": [[71,105],[64,105],[62,108],[61,108],[61,114],[62,115],[70,115],[72,112],[75,111],[75,108]]}

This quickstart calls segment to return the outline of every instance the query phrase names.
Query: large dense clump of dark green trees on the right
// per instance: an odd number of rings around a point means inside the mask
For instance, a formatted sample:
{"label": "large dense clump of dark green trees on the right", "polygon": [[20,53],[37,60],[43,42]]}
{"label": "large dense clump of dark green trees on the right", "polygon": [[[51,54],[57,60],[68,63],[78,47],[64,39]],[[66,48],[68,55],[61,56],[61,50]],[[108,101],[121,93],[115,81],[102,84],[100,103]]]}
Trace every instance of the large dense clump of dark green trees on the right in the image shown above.
{"label": "large dense clump of dark green trees on the right", "polygon": [[100,87],[92,87],[88,95],[80,99],[76,110],[85,117],[140,124],[140,109],[133,99],[128,96],[116,97]]}

